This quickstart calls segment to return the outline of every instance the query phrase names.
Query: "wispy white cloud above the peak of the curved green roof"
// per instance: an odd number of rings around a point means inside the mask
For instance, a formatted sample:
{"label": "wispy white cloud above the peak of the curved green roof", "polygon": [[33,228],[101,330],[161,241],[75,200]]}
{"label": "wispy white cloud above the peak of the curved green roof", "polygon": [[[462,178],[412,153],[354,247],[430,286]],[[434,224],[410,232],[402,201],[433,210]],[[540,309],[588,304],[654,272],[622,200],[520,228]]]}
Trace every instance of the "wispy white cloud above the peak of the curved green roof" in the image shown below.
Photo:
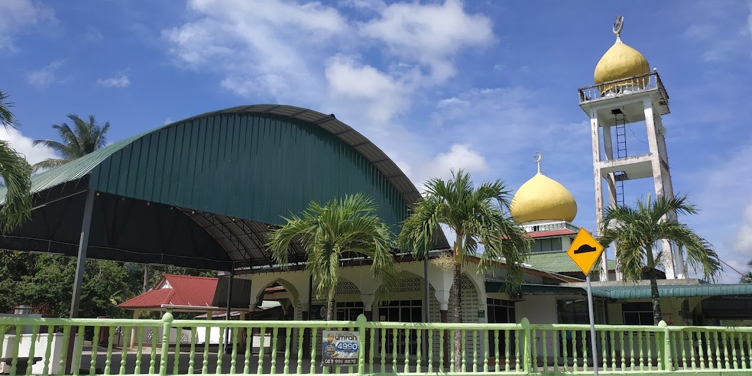
{"label": "wispy white cloud above the peak of the curved green roof", "polygon": [[192,0],[188,9],[195,20],[162,32],[170,52],[187,68],[217,69],[239,96],[319,96],[322,68],[311,62],[349,35],[341,14],[318,2]]}

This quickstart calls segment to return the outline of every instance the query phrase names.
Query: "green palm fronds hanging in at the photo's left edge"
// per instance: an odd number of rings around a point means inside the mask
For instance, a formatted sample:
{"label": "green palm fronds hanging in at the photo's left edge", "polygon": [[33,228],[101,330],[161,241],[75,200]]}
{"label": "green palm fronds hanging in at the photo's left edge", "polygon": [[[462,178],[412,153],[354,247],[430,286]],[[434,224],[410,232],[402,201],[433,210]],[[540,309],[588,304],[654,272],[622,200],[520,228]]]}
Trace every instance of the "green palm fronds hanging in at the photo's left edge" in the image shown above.
{"label": "green palm fronds hanging in at the photo's left edge", "polygon": [[[17,120],[5,102],[8,95],[0,92],[0,123],[6,128],[17,126]],[[32,212],[32,168],[23,156],[0,141],[0,176],[5,185],[5,204],[0,208],[0,232],[6,233],[29,219]]]}

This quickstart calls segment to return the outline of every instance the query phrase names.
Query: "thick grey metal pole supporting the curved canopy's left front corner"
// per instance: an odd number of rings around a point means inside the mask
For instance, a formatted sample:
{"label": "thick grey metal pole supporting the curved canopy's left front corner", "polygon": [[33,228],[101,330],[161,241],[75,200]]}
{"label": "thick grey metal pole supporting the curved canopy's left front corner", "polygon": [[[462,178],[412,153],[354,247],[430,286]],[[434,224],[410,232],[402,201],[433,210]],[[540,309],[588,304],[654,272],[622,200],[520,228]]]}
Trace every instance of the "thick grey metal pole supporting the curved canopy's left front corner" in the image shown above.
{"label": "thick grey metal pole supporting the curved canopy's left front corner", "polygon": [[[78,308],[81,302],[81,286],[83,285],[83,271],[86,267],[86,250],[89,248],[89,229],[92,224],[92,211],[94,208],[94,190],[86,193],[86,204],[83,206],[83,222],[81,223],[81,236],[78,239],[78,259],[76,261],[76,277],[73,282],[73,297],[71,298],[71,312],[69,317],[78,317]],[[73,350],[76,343],[77,326],[71,327],[68,339],[68,348],[65,356],[65,373],[70,374],[73,367]]]}

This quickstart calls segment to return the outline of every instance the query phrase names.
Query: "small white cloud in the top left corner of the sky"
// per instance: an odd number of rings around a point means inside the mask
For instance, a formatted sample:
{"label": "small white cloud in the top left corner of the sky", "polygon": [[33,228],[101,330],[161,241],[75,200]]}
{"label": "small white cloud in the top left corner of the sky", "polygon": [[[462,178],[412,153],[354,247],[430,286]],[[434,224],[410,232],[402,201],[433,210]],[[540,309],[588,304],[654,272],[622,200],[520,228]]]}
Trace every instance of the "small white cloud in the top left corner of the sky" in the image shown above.
{"label": "small white cloud in the top left corner of the sky", "polygon": [[14,53],[13,37],[29,26],[53,23],[55,12],[32,0],[2,0],[0,2],[0,51]]}

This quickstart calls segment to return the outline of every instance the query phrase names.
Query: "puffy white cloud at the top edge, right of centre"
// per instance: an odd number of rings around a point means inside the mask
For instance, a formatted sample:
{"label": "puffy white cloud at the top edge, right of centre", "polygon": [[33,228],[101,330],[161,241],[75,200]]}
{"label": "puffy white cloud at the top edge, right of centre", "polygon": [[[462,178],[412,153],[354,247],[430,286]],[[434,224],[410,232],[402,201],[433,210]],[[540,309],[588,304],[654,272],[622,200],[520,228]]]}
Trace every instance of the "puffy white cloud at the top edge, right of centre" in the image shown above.
{"label": "puffy white cloud at the top edge, right of centre", "polygon": [[493,41],[491,20],[466,14],[459,0],[444,4],[396,3],[378,10],[380,18],[363,23],[361,32],[387,44],[396,56],[427,65],[434,80],[455,71],[451,62],[459,50]]}

